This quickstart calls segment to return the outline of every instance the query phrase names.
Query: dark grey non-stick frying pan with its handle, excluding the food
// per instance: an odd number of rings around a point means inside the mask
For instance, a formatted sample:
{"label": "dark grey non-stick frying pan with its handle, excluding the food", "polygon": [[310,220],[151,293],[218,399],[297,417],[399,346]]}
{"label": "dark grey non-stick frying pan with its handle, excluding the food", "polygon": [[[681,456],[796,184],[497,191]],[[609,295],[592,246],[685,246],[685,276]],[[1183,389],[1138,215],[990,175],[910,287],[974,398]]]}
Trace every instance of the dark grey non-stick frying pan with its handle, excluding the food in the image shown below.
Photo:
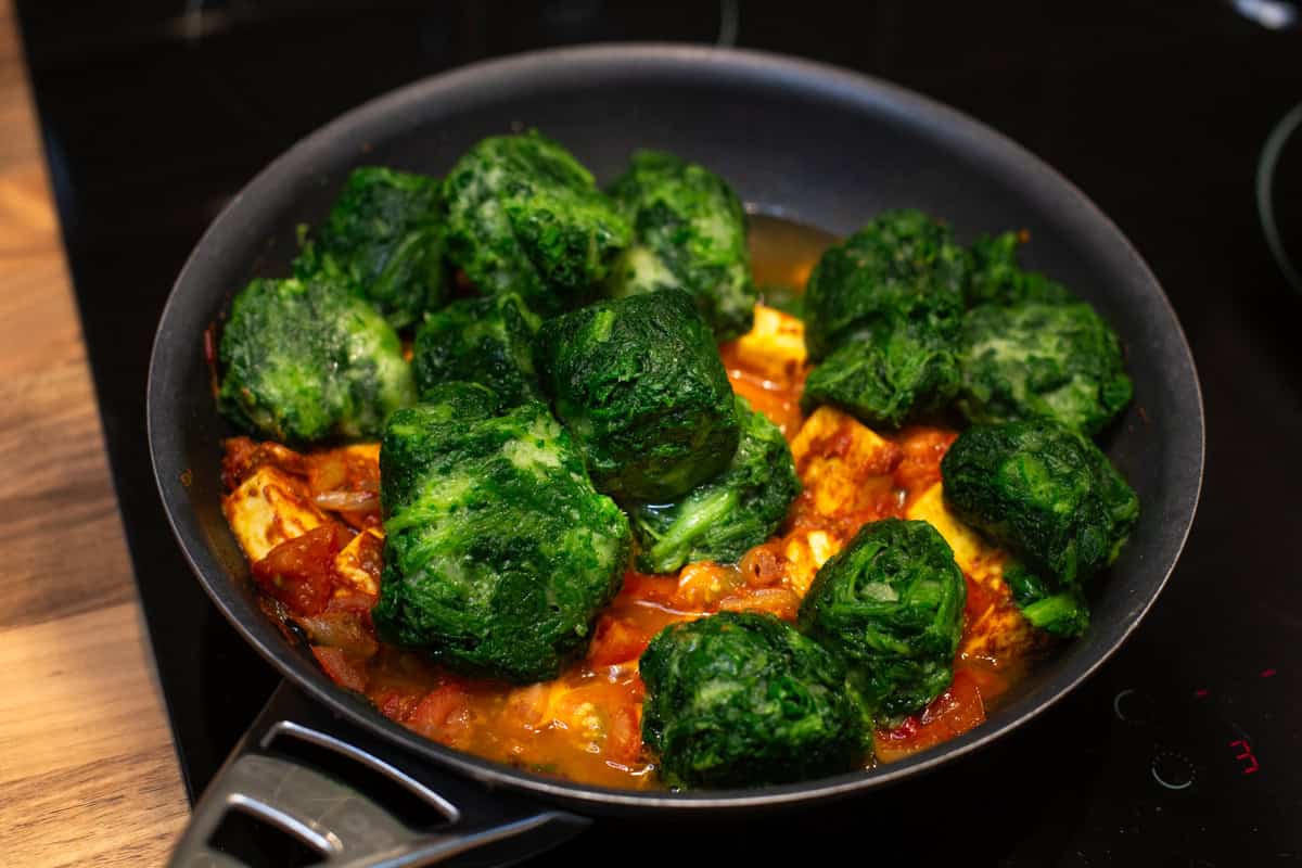
{"label": "dark grey non-stick frying pan with its handle, excluding the food", "polygon": [[[480,138],[530,126],[569,147],[600,181],[634,148],[664,148],[721,173],[750,210],[836,234],[892,207],[937,215],[962,241],[1029,229],[1029,265],[1073,286],[1113,324],[1135,387],[1104,445],[1143,511],[1121,558],[1096,583],[1088,634],[952,742],[888,766],[745,791],[633,793],[531,774],[426,740],[335,686],[258,609],[227,528],[220,454],[232,432],[212,400],[203,332],[250,278],[289,273],[296,226],[320,220],[349,169],[384,164],[443,174]],[[1170,575],[1203,466],[1202,397],[1180,323],[1121,232],[1061,176],[971,118],[884,82],[759,52],[655,44],[462,68],[367,103],[276,159],[214,221],[177,278],[154,344],[148,439],[164,506],[195,575],[318,712],[312,725],[258,724],[201,799],[174,864],[237,864],[208,842],[230,809],[292,833],[329,864],[415,865],[466,855],[516,859],[600,815],[734,816],[918,776],[1008,737],[1116,651]],[[384,817],[355,787],[322,774],[301,751],[283,750],[292,743],[378,770],[424,799],[431,824],[441,825],[413,832]],[[435,780],[426,772],[418,781],[417,766],[434,769]]]}

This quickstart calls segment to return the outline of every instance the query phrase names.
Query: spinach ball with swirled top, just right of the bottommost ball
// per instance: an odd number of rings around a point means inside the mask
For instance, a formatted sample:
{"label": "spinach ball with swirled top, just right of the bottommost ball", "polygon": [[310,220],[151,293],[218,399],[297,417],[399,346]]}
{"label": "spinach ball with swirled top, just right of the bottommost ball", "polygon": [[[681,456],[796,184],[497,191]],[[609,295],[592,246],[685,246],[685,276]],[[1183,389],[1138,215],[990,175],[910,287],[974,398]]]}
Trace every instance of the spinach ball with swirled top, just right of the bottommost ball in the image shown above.
{"label": "spinach ball with swirled top, just right of the bottommost ball", "polygon": [[889,721],[917,712],[953,681],[967,586],[927,522],[865,524],[819,569],[801,629],[845,660],[865,707]]}

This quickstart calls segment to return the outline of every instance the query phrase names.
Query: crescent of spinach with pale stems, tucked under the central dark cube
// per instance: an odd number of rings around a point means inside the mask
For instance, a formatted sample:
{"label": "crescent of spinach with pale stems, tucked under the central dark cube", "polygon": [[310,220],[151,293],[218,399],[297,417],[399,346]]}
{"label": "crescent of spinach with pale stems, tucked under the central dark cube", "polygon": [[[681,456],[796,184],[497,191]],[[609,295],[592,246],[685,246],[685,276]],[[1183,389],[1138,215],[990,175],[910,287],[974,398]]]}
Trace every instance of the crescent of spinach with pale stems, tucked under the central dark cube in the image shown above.
{"label": "crescent of spinach with pale stems, tucked under the central dark cube", "polygon": [[728,467],[674,504],[631,504],[638,569],[673,573],[685,563],[734,563],[767,540],[801,492],[792,450],[772,422],[737,397],[741,442]]}

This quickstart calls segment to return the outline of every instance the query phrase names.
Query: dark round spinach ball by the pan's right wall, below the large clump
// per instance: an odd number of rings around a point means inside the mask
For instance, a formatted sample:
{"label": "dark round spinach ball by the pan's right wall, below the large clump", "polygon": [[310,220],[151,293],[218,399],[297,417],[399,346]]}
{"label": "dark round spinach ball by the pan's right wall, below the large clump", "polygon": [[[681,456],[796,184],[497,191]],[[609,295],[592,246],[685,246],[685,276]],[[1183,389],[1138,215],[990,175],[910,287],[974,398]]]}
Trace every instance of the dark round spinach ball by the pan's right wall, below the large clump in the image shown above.
{"label": "dark round spinach ball by the pan's right wall, below the large clump", "polygon": [[945,502],[1056,587],[1112,563],[1139,498],[1108,457],[1048,419],[973,426],[940,462]]}

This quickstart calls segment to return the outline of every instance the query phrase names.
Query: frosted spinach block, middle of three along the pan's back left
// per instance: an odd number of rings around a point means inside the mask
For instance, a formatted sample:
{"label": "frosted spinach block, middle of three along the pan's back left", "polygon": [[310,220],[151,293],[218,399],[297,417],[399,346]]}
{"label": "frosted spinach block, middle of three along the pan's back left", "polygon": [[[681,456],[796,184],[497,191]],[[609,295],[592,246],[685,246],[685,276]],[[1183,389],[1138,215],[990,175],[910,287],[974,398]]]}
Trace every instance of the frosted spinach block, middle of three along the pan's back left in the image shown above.
{"label": "frosted spinach block, middle of three along the pan's back left", "polygon": [[448,256],[484,294],[552,316],[590,301],[633,229],[591,173],[530,131],[487,138],[444,180]]}

